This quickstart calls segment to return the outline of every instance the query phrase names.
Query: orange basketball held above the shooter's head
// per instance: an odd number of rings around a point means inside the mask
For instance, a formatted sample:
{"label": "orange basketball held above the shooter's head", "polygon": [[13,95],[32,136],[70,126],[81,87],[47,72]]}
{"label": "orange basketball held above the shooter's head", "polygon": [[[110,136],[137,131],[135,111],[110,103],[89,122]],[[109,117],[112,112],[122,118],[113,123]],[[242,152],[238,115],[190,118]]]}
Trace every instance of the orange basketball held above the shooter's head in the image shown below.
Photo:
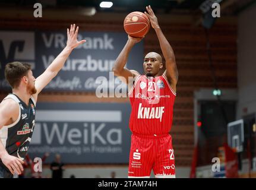
{"label": "orange basketball held above the shooter's head", "polygon": [[143,12],[131,12],[125,17],[124,29],[129,36],[143,37],[150,29],[150,20]]}

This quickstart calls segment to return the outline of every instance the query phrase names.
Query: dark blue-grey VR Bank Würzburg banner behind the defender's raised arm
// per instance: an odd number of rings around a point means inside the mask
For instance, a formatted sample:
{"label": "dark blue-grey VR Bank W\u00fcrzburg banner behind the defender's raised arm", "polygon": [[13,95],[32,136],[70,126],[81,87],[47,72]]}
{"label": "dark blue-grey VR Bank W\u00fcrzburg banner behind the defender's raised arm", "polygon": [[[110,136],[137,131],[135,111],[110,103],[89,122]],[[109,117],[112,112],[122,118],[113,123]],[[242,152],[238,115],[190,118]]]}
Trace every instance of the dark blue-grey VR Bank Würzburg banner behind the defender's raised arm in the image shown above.
{"label": "dark blue-grey VR Bank W\u00fcrzburg banner behind the defender's raised arm", "polygon": [[[79,32],[78,40],[81,39],[87,42],[73,50],[44,91],[96,91],[99,85],[115,90],[122,84],[111,71],[127,42],[127,34]],[[66,42],[66,31],[0,31],[0,89],[10,88],[4,79],[4,67],[8,62],[30,63],[34,77],[38,77],[64,49]],[[131,50],[126,66],[143,72],[143,42]]]}

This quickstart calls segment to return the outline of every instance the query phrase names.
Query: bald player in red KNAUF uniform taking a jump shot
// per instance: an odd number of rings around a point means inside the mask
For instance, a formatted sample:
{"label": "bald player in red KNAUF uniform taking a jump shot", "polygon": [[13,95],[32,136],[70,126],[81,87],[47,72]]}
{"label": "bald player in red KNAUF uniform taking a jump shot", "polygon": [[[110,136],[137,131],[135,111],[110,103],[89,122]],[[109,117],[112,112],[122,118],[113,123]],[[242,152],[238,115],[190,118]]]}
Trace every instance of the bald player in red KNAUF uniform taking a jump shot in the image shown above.
{"label": "bald player in red KNAUF uniform taking a jump shot", "polygon": [[153,169],[156,178],[175,178],[172,137],[169,132],[178,70],[172,47],[162,33],[156,15],[150,6],[146,9],[145,14],[150,18],[165,57],[166,71],[163,75],[160,74],[163,68],[162,57],[156,52],[147,53],[144,58],[145,75],[124,68],[132,47],[141,41],[131,36],[128,36],[112,69],[116,76],[128,84],[132,107],[129,120],[132,137],[128,177],[149,178]]}

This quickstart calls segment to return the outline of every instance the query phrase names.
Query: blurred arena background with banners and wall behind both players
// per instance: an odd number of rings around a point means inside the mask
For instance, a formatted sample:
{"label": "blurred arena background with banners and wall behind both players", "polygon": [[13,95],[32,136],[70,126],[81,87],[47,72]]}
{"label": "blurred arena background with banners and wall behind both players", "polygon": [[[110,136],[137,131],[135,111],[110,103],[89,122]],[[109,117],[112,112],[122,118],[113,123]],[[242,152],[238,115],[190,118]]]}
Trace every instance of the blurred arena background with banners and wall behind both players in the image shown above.
{"label": "blurred arena background with banners and wall behind both players", "polygon": [[[22,177],[34,176],[38,157],[40,177],[52,178],[57,156],[63,178],[127,178],[131,106],[127,91],[114,93],[121,83],[111,71],[127,42],[124,18],[151,5],[179,72],[170,131],[176,178],[256,178],[256,1],[113,0],[110,8],[101,2],[0,1],[1,101],[11,93],[8,62],[30,63],[38,77],[65,47],[71,24],[87,40],[39,94],[31,163]],[[127,68],[142,73],[151,51],[162,55],[152,27]],[[106,83],[97,96],[99,77]]]}

